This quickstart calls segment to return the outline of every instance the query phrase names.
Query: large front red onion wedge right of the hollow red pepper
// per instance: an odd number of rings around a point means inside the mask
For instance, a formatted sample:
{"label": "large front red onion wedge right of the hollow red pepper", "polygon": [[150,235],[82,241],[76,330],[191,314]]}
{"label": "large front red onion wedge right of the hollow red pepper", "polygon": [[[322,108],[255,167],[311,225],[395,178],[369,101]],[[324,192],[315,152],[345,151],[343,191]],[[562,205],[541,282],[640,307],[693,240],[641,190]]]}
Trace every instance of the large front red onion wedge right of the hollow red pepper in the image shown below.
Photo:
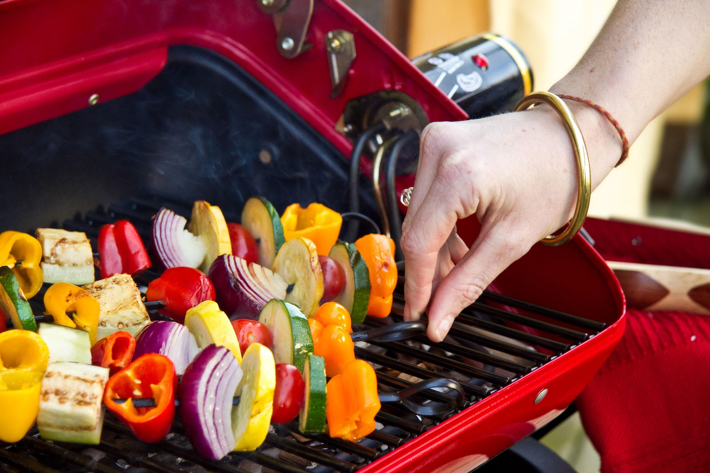
{"label": "large front red onion wedge right of the hollow red pepper", "polygon": [[182,375],[180,418],[192,447],[202,457],[219,460],[236,445],[231,409],[241,376],[234,355],[217,345],[204,347]]}

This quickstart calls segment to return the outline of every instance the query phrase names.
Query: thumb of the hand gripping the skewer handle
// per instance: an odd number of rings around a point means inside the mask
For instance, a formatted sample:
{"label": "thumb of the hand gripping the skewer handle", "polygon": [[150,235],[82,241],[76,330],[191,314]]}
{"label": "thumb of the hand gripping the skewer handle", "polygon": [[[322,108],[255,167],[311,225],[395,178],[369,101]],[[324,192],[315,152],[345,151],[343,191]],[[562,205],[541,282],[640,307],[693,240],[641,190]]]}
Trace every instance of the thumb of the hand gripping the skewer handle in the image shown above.
{"label": "thumb of the hand gripping the skewer handle", "polygon": [[511,243],[508,235],[501,226],[484,228],[471,250],[442,279],[427,311],[431,340],[444,340],[461,310],[473,304],[503,269],[528,250]]}

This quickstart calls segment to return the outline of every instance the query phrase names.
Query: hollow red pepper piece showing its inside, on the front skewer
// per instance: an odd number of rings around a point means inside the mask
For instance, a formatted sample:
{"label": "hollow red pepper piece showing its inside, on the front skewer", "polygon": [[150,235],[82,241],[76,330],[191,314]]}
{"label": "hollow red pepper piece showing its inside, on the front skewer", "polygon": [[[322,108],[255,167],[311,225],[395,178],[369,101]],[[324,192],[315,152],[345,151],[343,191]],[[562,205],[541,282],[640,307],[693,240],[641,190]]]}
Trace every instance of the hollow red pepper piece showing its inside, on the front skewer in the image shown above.
{"label": "hollow red pepper piece showing its inside, on the front skewer", "polygon": [[[104,404],[143,442],[158,442],[168,435],[175,418],[178,376],[168,357],[146,353],[109,378]],[[133,406],[132,398],[152,397],[155,407]],[[114,399],[129,399],[116,404]]]}

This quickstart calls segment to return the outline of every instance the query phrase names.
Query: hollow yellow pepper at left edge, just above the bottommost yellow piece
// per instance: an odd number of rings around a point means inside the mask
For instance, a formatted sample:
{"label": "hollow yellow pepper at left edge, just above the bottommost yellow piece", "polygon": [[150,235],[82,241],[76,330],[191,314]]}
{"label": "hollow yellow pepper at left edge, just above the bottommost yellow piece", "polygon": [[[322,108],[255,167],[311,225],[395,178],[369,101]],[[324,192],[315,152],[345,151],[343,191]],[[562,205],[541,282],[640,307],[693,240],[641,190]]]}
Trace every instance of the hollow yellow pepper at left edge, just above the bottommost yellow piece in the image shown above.
{"label": "hollow yellow pepper at left edge, just above the bottommost yellow piece", "polygon": [[[49,348],[42,337],[30,330],[7,330],[0,333],[0,373],[5,371],[44,372],[49,362]],[[0,406],[11,406],[3,404]],[[4,409],[0,409],[3,411]],[[0,427],[1,427],[0,423]]]}

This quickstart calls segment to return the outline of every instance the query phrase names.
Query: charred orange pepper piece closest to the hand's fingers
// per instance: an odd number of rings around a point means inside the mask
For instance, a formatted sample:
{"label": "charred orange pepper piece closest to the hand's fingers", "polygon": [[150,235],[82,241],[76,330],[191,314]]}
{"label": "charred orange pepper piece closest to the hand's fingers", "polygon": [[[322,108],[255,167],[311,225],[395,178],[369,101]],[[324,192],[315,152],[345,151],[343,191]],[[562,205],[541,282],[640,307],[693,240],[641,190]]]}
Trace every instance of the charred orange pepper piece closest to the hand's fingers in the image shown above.
{"label": "charred orange pepper piece closest to the hand's fingers", "polygon": [[371,233],[355,242],[370,274],[370,300],[367,315],[386,317],[392,311],[392,293],[397,286],[395,242],[385,235]]}

